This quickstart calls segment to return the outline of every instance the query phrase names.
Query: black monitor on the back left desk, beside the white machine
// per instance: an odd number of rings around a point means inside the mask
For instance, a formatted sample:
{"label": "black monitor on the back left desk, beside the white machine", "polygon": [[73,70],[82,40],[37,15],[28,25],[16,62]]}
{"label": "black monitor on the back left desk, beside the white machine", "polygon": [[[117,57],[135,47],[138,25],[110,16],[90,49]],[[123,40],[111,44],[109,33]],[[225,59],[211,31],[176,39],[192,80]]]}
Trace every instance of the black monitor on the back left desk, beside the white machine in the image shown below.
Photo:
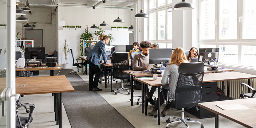
{"label": "black monitor on the back left desk, beside the white machine", "polygon": [[45,48],[25,48],[25,59],[45,59]]}

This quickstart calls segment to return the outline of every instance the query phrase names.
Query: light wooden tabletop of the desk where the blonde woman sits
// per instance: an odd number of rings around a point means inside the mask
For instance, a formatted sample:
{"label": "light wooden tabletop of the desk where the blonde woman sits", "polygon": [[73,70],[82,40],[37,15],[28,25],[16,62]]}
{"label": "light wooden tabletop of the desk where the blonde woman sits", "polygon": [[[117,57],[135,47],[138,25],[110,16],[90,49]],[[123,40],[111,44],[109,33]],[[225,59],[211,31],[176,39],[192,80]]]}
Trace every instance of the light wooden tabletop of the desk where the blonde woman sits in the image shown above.
{"label": "light wooden tabletop of the desk where the blonde woman sits", "polygon": [[[124,72],[124,71],[122,71]],[[135,74],[135,73],[134,73]],[[253,79],[256,78],[255,75],[250,75],[241,72],[219,72],[219,73],[205,73],[203,76],[203,83],[205,82],[217,82],[217,81],[226,81],[226,80],[242,80],[242,79]],[[134,78],[139,82],[145,83],[149,86],[161,86],[162,77],[158,77],[157,80],[147,79],[140,80],[138,78]]]}

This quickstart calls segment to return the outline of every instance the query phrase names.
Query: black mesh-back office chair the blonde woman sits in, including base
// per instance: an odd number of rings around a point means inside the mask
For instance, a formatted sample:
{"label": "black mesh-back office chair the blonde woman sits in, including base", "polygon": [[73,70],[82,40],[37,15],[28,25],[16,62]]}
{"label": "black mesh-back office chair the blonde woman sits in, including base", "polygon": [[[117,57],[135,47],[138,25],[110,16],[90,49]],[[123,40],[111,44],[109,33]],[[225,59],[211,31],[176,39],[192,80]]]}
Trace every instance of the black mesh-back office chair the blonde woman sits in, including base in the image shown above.
{"label": "black mesh-back office chair the blonde woman sits in, including base", "polygon": [[[199,121],[190,120],[189,117],[184,118],[184,108],[191,108],[197,106],[197,103],[202,102],[202,83],[204,75],[204,63],[181,63],[179,65],[179,78],[175,90],[175,101],[171,101],[170,104],[176,108],[182,108],[181,118],[169,117],[166,122],[166,128],[170,128],[171,123],[182,122],[187,128],[189,128],[187,122],[195,122],[204,128],[203,124]],[[168,92],[169,93],[169,92]],[[168,94],[167,93],[167,94]],[[168,95],[167,99],[168,100]],[[166,102],[164,102],[166,103]],[[170,122],[170,118],[176,119]]]}

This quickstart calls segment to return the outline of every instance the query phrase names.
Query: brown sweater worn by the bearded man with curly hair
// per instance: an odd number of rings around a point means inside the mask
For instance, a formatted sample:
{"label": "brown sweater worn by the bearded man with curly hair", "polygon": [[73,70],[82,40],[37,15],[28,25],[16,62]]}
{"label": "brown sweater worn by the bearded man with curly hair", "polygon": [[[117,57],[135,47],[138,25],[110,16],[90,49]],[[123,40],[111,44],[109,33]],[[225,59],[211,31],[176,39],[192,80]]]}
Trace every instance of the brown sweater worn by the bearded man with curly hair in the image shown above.
{"label": "brown sweater worn by the bearded man with curly hair", "polygon": [[138,53],[133,58],[132,68],[133,70],[142,71],[145,70],[149,63],[148,56],[142,56],[143,53]]}

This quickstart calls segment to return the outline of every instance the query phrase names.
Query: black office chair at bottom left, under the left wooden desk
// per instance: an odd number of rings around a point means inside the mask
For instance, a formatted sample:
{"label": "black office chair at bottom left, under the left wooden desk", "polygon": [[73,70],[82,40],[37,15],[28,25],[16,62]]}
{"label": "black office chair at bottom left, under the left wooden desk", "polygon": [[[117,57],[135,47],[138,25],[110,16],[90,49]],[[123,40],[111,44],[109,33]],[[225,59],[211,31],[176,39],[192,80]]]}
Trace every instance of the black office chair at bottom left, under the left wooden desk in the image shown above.
{"label": "black office chair at bottom left, under the left wooden desk", "polygon": [[[19,100],[19,99],[18,99]],[[19,109],[22,107],[29,107],[29,117],[19,116]],[[35,105],[32,103],[16,104],[16,128],[28,128],[29,124],[32,122],[32,114],[34,111]]]}

